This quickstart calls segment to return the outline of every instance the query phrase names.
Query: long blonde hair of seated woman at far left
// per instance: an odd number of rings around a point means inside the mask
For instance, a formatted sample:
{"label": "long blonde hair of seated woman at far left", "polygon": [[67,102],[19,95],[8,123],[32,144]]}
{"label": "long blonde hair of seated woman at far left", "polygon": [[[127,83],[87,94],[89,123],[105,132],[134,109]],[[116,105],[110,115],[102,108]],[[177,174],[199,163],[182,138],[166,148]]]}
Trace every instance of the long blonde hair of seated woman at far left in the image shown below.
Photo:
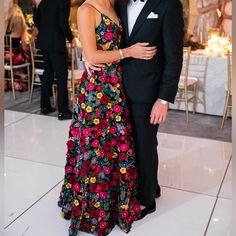
{"label": "long blonde hair of seated woman at far left", "polygon": [[23,35],[27,26],[24,14],[19,6],[14,4],[8,12],[8,33],[17,33]]}

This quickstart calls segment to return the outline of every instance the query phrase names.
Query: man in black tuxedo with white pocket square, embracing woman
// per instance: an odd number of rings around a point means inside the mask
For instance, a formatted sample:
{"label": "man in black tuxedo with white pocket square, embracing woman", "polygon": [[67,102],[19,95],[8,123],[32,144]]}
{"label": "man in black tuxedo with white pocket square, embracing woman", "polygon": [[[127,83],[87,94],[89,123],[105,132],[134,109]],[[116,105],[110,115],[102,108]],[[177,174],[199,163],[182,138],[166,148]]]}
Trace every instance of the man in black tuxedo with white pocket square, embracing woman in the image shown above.
{"label": "man in black tuxedo with white pocket square, embracing woman", "polygon": [[[157,131],[173,103],[182,69],[184,21],[179,0],[117,1],[124,28],[123,47],[137,42],[156,46],[151,60],[124,60],[123,78],[130,99],[138,164],[141,217],[156,210],[158,184]],[[97,66],[88,65],[98,70]]]}

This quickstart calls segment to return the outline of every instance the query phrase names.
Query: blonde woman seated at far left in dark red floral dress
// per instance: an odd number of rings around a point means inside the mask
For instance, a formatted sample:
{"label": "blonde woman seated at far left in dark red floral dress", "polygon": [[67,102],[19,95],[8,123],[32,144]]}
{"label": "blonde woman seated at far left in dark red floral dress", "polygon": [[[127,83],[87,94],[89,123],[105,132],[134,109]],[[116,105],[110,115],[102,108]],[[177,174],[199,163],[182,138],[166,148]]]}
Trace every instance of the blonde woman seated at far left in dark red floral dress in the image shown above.
{"label": "blonde woman seated at far left in dark red floral dress", "polygon": [[[13,65],[23,64],[30,60],[30,52],[27,44],[28,33],[25,18],[21,8],[17,4],[13,4],[9,8],[6,18],[6,34],[12,38],[12,61]],[[5,52],[5,62],[10,62],[10,51],[7,49]],[[14,76],[22,82],[15,82],[15,90],[27,90],[27,84],[23,82],[27,80],[27,74],[24,69],[14,70]],[[5,90],[10,89],[9,81],[5,81]]]}

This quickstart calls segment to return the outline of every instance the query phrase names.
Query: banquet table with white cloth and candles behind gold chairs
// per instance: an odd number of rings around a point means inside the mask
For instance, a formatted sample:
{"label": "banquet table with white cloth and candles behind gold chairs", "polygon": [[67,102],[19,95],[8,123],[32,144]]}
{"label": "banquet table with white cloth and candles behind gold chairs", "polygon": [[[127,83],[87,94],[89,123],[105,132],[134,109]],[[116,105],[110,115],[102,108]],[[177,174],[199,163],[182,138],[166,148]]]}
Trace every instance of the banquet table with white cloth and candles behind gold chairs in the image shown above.
{"label": "banquet table with white cloth and candles behind gold chairs", "polygon": [[[206,57],[202,50],[198,50],[191,53],[190,61],[199,55]],[[191,63],[189,75],[198,77],[195,71],[192,71]],[[202,100],[205,92],[205,109],[203,104],[198,102],[196,112],[217,116],[223,115],[227,79],[227,57],[209,57],[206,77],[199,78],[198,99],[199,101]],[[192,111],[192,107],[192,103],[189,103],[189,111]],[[170,104],[170,109],[185,110],[185,104],[182,102],[179,106],[175,102],[175,104]]]}

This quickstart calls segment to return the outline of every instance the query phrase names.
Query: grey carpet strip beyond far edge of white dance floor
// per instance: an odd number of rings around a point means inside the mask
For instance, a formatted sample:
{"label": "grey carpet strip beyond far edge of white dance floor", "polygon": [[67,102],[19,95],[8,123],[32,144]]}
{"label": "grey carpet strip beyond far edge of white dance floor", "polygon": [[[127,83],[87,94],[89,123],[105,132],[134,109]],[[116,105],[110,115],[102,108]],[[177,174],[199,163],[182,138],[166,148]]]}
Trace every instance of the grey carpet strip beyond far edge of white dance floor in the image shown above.
{"label": "grey carpet strip beyond far edge of white dance floor", "polygon": [[[12,100],[12,93],[8,91],[5,93],[5,108],[12,111],[27,112],[32,114],[40,113],[40,89],[36,88],[34,91],[34,98],[32,104],[29,104],[29,97],[27,92],[16,93],[17,99]],[[71,103],[70,103],[71,104]],[[222,110],[223,107],[219,107]],[[57,116],[57,112],[50,114],[50,116]],[[225,122],[224,129],[220,129],[222,117],[210,116],[204,114],[192,114],[190,112],[190,122],[185,122],[185,112],[170,110],[166,124],[160,127],[163,133],[186,135],[199,138],[215,139],[219,141],[231,142],[232,140],[232,120],[228,119]]]}

